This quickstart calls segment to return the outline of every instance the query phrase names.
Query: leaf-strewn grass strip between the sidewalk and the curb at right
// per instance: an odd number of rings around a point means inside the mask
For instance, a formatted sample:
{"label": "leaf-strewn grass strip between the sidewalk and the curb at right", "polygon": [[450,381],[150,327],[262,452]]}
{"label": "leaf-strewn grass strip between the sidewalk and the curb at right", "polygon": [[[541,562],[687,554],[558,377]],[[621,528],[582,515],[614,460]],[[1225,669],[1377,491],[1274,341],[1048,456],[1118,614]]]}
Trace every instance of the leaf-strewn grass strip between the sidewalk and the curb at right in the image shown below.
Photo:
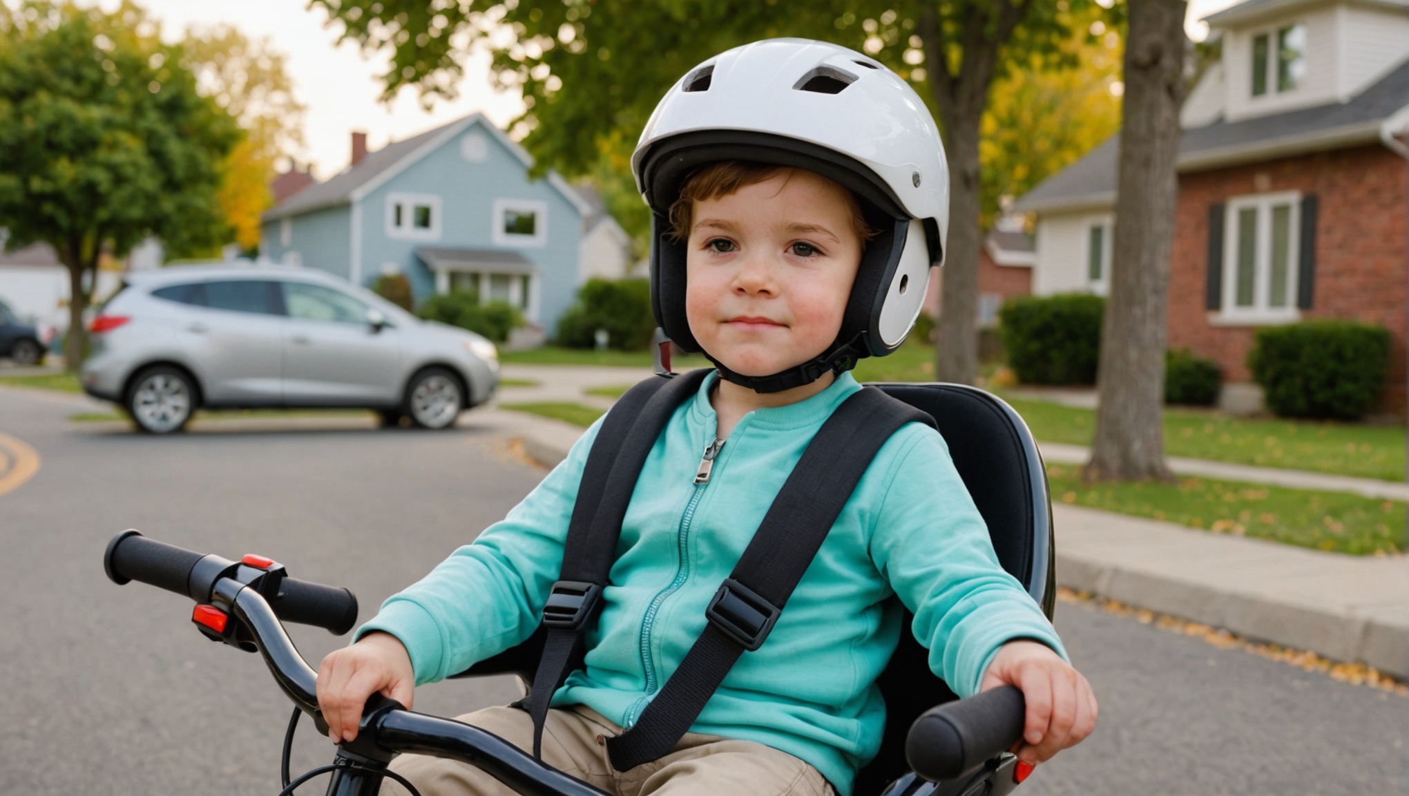
{"label": "leaf-strewn grass strip between the sidewalk and the curb at right", "polygon": [[1208,478],[1085,485],[1069,465],[1048,465],[1047,478],[1053,500],[1074,506],[1351,555],[1405,549],[1405,504],[1394,500]]}

